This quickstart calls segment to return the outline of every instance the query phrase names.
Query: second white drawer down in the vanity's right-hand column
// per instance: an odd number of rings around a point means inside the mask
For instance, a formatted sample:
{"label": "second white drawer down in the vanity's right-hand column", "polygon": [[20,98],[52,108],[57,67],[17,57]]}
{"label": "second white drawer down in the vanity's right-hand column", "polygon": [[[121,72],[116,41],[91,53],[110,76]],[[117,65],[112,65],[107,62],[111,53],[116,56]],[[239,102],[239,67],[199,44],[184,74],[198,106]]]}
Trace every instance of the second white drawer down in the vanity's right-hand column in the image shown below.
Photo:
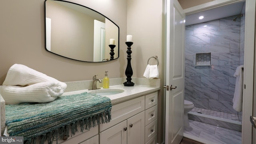
{"label": "second white drawer down in the vanity's right-hand column", "polygon": [[145,110],[145,126],[157,118],[157,105]]}

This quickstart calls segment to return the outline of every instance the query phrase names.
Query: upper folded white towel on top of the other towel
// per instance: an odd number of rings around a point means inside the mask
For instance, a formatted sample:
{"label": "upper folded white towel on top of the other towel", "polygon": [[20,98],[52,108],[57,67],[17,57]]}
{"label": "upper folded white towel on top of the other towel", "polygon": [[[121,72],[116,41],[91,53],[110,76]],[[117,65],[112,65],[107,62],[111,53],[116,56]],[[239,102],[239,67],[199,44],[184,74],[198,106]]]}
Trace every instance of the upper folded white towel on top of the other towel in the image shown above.
{"label": "upper folded white towel on top of the other towel", "polygon": [[20,85],[27,86],[35,83],[41,83],[46,81],[55,81],[60,83],[62,89],[66,89],[66,83],[60,82],[57,79],[49,77],[44,73],[38,72],[25,65],[14,64],[7,72],[3,85]]}

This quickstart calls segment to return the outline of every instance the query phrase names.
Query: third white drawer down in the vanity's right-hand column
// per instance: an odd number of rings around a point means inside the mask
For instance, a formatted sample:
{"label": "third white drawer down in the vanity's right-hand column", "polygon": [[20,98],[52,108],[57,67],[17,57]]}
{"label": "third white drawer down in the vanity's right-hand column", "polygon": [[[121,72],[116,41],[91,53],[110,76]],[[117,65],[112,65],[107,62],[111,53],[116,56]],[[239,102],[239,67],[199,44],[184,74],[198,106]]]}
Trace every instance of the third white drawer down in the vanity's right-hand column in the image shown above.
{"label": "third white drawer down in the vanity's right-hand column", "polygon": [[145,127],[145,142],[153,138],[157,133],[157,119]]}

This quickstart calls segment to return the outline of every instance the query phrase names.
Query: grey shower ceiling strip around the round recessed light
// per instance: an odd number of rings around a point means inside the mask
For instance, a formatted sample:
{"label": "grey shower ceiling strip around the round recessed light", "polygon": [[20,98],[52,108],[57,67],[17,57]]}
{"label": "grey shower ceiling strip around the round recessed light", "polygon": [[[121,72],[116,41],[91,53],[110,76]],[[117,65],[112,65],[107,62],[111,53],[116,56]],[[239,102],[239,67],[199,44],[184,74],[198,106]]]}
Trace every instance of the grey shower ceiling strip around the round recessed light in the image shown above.
{"label": "grey shower ceiling strip around the round recessed light", "polygon": [[[245,13],[245,2],[238,2],[235,4],[229,4],[203,12],[198,12],[190,15],[186,15],[186,26],[192,24],[199,24],[202,22],[208,22],[211,20],[217,20],[220,18],[226,18],[228,16],[235,16]],[[204,16],[204,19],[199,20],[199,16]]]}

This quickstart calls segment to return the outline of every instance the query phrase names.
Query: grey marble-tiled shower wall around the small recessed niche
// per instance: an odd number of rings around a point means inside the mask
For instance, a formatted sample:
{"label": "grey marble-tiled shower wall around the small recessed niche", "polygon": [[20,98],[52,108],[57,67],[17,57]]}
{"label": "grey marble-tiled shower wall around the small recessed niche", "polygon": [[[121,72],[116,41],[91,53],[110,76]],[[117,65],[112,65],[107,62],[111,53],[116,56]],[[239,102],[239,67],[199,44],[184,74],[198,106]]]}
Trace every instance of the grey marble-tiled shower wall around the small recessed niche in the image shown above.
{"label": "grey marble-tiled shower wall around the small recessed niche", "polygon": [[[244,17],[186,26],[185,99],[195,107],[237,114],[233,75],[244,63]],[[211,66],[195,66],[196,53],[211,53]]]}

